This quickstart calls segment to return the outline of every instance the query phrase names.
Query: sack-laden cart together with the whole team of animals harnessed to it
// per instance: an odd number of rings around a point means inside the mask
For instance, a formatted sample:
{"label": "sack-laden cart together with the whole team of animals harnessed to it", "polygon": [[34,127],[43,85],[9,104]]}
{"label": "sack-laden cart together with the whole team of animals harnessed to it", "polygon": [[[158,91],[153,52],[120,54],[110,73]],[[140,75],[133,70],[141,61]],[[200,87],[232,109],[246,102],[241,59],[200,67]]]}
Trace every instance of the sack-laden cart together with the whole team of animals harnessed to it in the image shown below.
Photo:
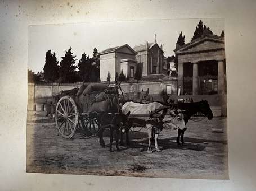
{"label": "sack-laden cart together with the whole team of animals harnessed to it", "polygon": [[[156,132],[161,131],[163,127],[178,129],[177,143],[179,143],[180,135],[183,143],[186,123],[192,115],[200,111],[208,119],[212,119],[213,116],[205,100],[197,103],[182,103],[183,105],[158,102],[140,104],[133,101],[119,101],[118,90],[123,94],[120,83],[116,83],[114,87],[109,87],[105,83],[91,83],[82,85],[79,89],[62,91],[60,98],[57,98],[55,111],[56,128],[61,136],[71,139],[77,129],[82,128],[89,135],[97,134],[100,137],[100,145],[105,146],[102,133],[105,128],[110,128],[111,151],[114,130],[116,130],[116,148],[119,150],[120,131],[125,130],[128,143],[129,130],[134,131],[135,127],[141,127],[141,129],[147,127],[150,142],[148,151],[150,152],[153,129],[156,129]],[[149,129],[152,129],[152,132]],[[156,148],[157,138],[158,134],[155,137]]]}

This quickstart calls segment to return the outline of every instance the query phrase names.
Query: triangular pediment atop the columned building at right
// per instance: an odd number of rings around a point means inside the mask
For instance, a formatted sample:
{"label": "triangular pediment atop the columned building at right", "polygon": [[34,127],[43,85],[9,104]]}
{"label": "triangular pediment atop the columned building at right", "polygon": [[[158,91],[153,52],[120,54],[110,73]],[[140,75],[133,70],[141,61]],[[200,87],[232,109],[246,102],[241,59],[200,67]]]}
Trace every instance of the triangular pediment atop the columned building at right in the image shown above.
{"label": "triangular pediment atop the columned building at right", "polygon": [[179,54],[190,54],[209,52],[214,50],[224,50],[224,39],[218,36],[203,36],[199,39],[191,41],[188,44],[181,46],[181,48],[174,50]]}

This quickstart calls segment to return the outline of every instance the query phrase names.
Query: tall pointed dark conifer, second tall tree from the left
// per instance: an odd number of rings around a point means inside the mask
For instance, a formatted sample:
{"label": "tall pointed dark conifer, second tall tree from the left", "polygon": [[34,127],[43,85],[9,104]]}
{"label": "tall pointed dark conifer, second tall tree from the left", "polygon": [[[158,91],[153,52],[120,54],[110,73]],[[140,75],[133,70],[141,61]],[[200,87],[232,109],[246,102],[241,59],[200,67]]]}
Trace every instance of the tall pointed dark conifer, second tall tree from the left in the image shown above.
{"label": "tall pointed dark conifer, second tall tree from the left", "polygon": [[71,52],[71,47],[66,51],[66,54],[64,57],[61,57],[62,60],[60,62],[60,82],[75,82],[78,79],[77,74],[75,73],[75,69],[77,66],[75,66],[76,59],[73,55],[73,52]]}

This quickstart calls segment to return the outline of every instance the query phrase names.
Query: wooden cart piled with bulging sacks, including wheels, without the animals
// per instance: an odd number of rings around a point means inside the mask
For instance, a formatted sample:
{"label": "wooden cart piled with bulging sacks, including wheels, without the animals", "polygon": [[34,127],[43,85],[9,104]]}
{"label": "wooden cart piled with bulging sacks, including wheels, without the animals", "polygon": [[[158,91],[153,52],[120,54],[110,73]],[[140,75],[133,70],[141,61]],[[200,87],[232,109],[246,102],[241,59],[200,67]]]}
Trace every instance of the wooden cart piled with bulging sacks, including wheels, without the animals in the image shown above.
{"label": "wooden cart piled with bulging sacks, including wheels, without the animals", "polygon": [[[94,89],[93,89],[94,88]],[[56,128],[62,137],[71,139],[74,137],[77,128],[82,128],[91,135],[96,135],[100,129],[100,120],[103,111],[115,113],[115,106],[113,99],[118,96],[117,86],[109,87],[106,84],[89,84],[82,85],[79,89],[62,91],[55,99],[59,100],[56,104],[55,123]],[[104,92],[106,96],[102,98]],[[97,97],[100,94],[101,97]],[[100,101],[98,101],[101,99]],[[99,103],[105,101],[106,104],[112,104],[104,110],[97,106]],[[101,104],[102,105],[102,104]],[[94,107],[94,109],[92,109]],[[99,112],[97,112],[99,111]],[[102,112],[100,112],[102,111]]]}

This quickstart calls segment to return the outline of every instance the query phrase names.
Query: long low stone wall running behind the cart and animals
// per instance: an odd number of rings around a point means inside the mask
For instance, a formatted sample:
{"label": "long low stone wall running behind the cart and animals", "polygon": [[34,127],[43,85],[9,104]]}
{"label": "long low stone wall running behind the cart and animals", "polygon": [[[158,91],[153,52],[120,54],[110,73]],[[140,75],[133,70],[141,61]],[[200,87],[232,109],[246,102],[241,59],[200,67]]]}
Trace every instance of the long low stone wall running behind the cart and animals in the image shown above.
{"label": "long low stone wall running behind the cart and animals", "polygon": [[[71,90],[75,87],[80,87],[83,83],[51,83],[47,85],[34,85],[28,83],[28,110],[42,110],[48,100],[51,100],[52,95],[59,94],[62,90]],[[110,84],[114,86],[114,83]],[[227,116],[227,96],[226,95],[177,95],[177,80],[158,80],[158,81],[130,81],[121,83],[125,99],[134,101],[140,100],[139,92],[146,92],[149,88],[151,101],[163,101],[159,92],[167,90],[170,99],[177,101],[178,99],[192,98],[194,101],[207,100],[210,106],[221,107],[223,116]],[[119,93],[120,90],[119,90]],[[35,106],[36,105],[36,106]]]}

